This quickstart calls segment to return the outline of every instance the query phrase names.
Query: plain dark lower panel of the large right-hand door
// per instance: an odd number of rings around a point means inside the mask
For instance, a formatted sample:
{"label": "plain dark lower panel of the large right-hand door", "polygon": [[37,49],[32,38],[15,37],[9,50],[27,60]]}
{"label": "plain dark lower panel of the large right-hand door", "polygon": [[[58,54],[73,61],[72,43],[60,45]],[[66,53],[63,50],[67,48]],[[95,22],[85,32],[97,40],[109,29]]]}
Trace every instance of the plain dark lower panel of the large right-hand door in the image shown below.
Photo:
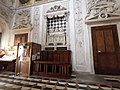
{"label": "plain dark lower panel of the large right-hand door", "polygon": [[96,69],[96,74],[108,74],[116,75],[119,74],[117,65],[117,56],[113,53],[100,53],[98,54],[98,67]]}

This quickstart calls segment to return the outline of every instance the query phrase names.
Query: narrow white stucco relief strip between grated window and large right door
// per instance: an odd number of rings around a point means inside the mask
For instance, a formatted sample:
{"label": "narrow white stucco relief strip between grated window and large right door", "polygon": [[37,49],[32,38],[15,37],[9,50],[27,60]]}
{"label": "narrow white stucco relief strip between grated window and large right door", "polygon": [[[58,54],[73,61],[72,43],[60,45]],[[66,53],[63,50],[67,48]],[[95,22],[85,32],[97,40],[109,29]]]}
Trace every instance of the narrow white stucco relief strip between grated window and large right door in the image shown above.
{"label": "narrow white stucco relief strip between grated window and large right door", "polygon": [[84,59],[84,31],[83,31],[83,19],[82,19],[82,2],[81,0],[75,1],[74,13],[75,13],[75,32],[76,32],[76,70],[85,70]]}

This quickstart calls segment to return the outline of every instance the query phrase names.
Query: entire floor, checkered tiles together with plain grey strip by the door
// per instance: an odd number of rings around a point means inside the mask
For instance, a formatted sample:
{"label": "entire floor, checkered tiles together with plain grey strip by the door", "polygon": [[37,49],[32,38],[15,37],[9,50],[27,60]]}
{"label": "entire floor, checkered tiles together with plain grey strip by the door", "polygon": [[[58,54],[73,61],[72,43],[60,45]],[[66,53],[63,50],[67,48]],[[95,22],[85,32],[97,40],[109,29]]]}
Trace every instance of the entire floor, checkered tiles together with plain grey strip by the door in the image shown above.
{"label": "entire floor, checkered tiles together with plain grey strip by the door", "polygon": [[0,74],[0,90],[120,90],[119,76],[74,73],[69,79]]}

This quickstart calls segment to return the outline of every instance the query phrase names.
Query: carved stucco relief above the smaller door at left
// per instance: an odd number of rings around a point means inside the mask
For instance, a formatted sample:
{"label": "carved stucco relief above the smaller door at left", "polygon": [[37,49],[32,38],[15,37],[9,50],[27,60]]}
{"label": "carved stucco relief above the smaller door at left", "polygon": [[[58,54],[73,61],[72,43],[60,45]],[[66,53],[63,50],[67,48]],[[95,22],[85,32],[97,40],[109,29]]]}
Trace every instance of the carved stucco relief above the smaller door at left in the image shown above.
{"label": "carved stucco relief above the smaller door at left", "polygon": [[31,10],[19,10],[16,13],[13,29],[31,28]]}

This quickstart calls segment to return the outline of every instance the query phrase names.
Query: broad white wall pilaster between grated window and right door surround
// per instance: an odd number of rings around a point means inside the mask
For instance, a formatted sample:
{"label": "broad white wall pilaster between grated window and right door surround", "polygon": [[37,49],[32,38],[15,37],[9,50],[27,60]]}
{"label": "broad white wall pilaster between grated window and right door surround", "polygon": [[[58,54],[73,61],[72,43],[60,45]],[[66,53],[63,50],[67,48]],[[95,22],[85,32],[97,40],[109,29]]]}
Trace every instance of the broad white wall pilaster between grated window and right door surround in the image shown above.
{"label": "broad white wall pilaster between grated window and right door surround", "polygon": [[86,1],[74,1],[74,32],[75,32],[75,59],[74,71],[90,72],[92,73],[90,50],[89,50],[89,37],[87,25],[85,24],[86,17]]}

